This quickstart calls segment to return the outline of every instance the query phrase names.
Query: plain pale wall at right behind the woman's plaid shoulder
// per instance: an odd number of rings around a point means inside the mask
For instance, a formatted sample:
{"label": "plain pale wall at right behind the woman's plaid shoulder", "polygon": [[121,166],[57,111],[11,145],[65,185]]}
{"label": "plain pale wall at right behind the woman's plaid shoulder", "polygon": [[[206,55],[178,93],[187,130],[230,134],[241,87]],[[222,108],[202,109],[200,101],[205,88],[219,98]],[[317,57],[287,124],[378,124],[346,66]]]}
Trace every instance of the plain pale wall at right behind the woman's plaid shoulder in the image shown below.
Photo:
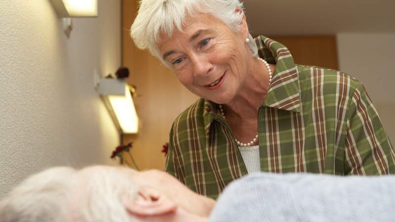
{"label": "plain pale wall at right behind the woman's plaid shoulder", "polygon": [[359,79],[395,145],[395,33],[339,33],[339,68]]}

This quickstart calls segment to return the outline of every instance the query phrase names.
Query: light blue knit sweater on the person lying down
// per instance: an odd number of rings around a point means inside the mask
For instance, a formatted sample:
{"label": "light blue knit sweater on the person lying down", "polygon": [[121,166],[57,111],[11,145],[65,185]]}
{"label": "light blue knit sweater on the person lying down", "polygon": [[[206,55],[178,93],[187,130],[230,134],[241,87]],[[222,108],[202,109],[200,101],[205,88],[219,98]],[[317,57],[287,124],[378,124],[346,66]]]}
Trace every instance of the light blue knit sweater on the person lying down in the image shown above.
{"label": "light blue knit sweater on the person lying down", "polygon": [[231,183],[209,222],[395,221],[395,176],[257,173]]}

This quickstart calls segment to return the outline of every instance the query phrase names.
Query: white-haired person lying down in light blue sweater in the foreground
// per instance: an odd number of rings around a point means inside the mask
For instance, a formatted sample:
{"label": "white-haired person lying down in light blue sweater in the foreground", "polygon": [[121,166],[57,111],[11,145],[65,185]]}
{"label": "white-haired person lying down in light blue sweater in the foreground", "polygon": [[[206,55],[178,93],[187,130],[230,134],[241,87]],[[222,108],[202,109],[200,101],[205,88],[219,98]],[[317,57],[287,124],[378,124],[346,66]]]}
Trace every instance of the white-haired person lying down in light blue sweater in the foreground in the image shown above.
{"label": "white-haired person lying down in light blue sweater in the foreground", "polygon": [[167,173],[125,167],[55,167],[0,201],[1,222],[392,221],[395,177],[257,173],[218,200]]}

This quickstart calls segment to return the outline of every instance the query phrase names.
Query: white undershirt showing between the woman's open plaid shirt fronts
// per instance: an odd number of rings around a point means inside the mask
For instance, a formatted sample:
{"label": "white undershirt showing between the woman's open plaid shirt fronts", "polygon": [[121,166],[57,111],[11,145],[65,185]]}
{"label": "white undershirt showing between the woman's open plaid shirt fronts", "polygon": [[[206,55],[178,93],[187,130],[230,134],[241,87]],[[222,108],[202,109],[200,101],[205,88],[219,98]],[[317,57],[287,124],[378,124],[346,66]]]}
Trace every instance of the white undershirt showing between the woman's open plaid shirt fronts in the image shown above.
{"label": "white undershirt showing between the woman's open plaid shirt fronts", "polygon": [[249,174],[261,172],[261,161],[259,158],[259,146],[238,147],[245,167]]}

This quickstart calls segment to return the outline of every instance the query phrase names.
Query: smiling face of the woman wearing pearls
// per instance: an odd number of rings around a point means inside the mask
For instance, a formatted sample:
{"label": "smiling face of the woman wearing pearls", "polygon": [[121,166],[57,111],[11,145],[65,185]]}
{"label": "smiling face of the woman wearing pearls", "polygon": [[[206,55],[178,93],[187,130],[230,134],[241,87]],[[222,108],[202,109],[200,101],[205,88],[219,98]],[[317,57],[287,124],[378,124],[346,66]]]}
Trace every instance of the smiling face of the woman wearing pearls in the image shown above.
{"label": "smiling face of the woman wearing pearls", "polygon": [[246,61],[251,53],[245,44],[245,21],[239,32],[209,14],[186,18],[183,32],[164,38],[160,52],[179,81],[191,92],[215,103],[235,98],[245,82]]}

